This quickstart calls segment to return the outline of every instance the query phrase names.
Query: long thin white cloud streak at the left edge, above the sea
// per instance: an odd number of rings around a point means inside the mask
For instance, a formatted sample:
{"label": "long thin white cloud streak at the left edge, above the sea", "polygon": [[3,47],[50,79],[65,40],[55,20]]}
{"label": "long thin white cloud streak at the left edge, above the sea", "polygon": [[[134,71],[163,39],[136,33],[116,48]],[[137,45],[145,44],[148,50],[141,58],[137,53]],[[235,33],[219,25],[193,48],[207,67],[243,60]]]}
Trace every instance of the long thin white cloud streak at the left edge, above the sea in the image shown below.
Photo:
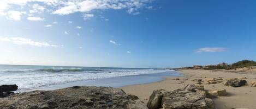
{"label": "long thin white cloud streak at the left edge, above the sea", "polygon": [[49,44],[47,42],[35,42],[23,37],[3,37],[3,38],[0,38],[0,41],[13,42],[14,44],[27,44],[30,46],[37,46],[37,47],[57,47],[54,44]]}

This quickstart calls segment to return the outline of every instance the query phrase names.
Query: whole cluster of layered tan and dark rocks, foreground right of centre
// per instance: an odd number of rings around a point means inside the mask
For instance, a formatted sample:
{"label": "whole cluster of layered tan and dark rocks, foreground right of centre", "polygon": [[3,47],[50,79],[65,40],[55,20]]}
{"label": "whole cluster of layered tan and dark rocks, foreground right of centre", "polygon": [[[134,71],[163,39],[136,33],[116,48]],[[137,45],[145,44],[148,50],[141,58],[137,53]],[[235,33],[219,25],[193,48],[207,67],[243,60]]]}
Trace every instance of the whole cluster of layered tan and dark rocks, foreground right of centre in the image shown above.
{"label": "whole cluster of layered tan and dark rocks, foreground right of centre", "polygon": [[[194,87],[194,85],[190,85]],[[213,109],[214,102],[206,98],[204,91],[194,87],[196,92],[188,91],[188,86],[184,89],[175,89],[166,92],[153,92],[147,104],[154,104],[149,106],[150,109]],[[159,98],[162,98],[159,100]],[[161,102],[160,102],[161,101]]]}

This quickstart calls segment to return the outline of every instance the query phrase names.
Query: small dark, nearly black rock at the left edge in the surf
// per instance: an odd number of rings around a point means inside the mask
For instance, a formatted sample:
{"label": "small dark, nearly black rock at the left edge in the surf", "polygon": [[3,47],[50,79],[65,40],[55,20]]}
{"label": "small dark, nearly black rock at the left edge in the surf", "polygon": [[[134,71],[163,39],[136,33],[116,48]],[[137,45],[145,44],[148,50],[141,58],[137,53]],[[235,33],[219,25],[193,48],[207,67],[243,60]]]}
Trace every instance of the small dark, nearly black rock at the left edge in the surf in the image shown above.
{"label": "small dark, nearly black rock at the left edge in the surf", "polygon": [[14,92],[18,89],[17,85],[2,85],[0,86],[0,98],[14,95]]}

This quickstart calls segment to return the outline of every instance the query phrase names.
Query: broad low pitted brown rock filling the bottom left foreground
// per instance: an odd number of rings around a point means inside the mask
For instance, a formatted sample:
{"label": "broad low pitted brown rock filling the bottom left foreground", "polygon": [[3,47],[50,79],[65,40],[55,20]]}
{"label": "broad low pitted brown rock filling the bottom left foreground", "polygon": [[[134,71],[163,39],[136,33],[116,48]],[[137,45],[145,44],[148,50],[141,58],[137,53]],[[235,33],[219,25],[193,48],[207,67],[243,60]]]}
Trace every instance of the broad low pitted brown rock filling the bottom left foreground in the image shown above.
{"label": "broad low pitted brown rock filling the bottom left foreground", "polygon": [[112,87],[69,87],[54,91],[33,91],[0,98],[0,108],[75,109],[126,108],[147,109],[136,97]]}

